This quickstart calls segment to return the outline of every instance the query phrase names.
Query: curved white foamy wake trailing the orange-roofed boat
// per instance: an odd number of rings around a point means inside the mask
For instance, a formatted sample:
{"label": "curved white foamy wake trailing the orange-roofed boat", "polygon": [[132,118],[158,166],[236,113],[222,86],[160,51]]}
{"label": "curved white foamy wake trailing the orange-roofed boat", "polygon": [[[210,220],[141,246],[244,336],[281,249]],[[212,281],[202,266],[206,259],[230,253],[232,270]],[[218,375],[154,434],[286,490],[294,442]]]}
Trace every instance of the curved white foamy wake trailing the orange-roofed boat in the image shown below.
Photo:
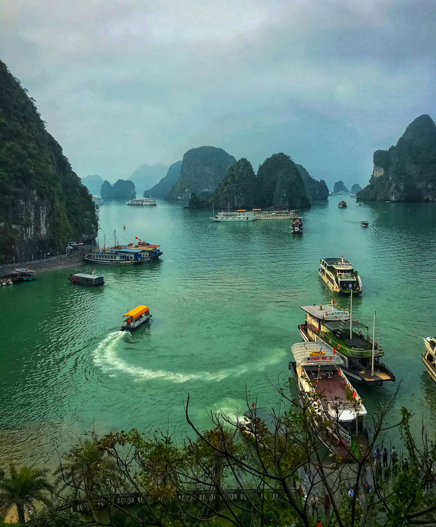
{"label": "curved white foamy wake trailing the orange-roofed boat", "polygon": [[114,333],[109,334],[93,351],[94,363],[102,368],[104,372],[112,372],[113,374],[116,372],[130,374],[135,377],[135,380],[162,379],[174,383],[185,383],[189,380],[220,381],[226,377],[239,377],[250,371],[261,372],[266,366],[280,362],[286,353],[284,349],[278,349],[274,355],[263,357],[259,362],[241,364],[234,368],[221,369],[213,373],[206,371],[177,373],[163,369],[152,370],[141,366],[127,364],[125,360],[117,356],[116,348],[120,340],[128,339],[130,337],[131,335],[129,333],[126,334],[121,331],[115,331]]}

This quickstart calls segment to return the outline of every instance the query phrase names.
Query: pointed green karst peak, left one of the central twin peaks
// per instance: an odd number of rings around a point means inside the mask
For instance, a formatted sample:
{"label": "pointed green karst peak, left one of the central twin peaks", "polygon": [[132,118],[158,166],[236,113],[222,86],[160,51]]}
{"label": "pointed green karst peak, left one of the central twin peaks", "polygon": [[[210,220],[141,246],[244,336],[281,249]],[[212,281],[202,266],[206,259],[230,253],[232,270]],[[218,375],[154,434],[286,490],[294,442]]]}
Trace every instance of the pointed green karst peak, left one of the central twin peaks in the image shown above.
{"label": "pointed green karst peak, left one of the central twin peaks", "polygon": [[212,201],[216,207],[251,209],[257,206],[259,189],[251,163],[245,158],[230,167],[224,179],[215,190]]}

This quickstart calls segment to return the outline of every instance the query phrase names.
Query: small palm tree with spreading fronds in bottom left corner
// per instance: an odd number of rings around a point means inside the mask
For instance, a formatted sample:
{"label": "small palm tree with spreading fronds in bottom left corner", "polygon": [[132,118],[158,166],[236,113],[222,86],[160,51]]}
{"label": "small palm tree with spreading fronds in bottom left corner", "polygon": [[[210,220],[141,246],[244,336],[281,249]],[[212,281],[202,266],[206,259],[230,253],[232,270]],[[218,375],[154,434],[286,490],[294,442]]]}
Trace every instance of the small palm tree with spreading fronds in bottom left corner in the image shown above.
{"label": "small palm tree with spreading fronds in bottom left corner", "polygon": [[52,485],[47,481],[48,470],[39,470],[34,466],[23,466],[21,469],[11,463],[8,474],[0,479],[0,515],[5,516],[15,505],[18,522],[25,523],[26,509],[32,509],[35,501],[50,504],[49,492]]}

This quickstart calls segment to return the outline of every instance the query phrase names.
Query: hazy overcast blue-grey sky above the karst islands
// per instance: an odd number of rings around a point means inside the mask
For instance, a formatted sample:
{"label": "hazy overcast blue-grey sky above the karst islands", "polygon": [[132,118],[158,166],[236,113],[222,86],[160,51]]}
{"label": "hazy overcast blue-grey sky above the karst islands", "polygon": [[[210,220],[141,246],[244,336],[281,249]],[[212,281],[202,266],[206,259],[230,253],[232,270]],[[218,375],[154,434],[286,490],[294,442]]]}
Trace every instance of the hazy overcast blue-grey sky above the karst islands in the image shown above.
{"label": "hazy overcast blue-grey sky above the karst islands", "polygon": [[436,118],[434,0],[2,0],[0,58],[80,176],[213,145],[329,188]]}

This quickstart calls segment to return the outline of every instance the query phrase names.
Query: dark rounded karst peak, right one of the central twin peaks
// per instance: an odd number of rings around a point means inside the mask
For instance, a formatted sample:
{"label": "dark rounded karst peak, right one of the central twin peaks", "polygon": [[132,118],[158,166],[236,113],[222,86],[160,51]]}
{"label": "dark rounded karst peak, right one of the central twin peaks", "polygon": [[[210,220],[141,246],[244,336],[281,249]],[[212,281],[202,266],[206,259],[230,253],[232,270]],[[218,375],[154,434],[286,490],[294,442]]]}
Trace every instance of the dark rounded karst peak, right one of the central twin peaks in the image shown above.
{"label": "dark rounded karst peak, right one of the central twin peaks", "polygon": [[257,170],[257,182],[261,207],[305,209],[311,206],[295,163],[283,152],[265,159]]}

